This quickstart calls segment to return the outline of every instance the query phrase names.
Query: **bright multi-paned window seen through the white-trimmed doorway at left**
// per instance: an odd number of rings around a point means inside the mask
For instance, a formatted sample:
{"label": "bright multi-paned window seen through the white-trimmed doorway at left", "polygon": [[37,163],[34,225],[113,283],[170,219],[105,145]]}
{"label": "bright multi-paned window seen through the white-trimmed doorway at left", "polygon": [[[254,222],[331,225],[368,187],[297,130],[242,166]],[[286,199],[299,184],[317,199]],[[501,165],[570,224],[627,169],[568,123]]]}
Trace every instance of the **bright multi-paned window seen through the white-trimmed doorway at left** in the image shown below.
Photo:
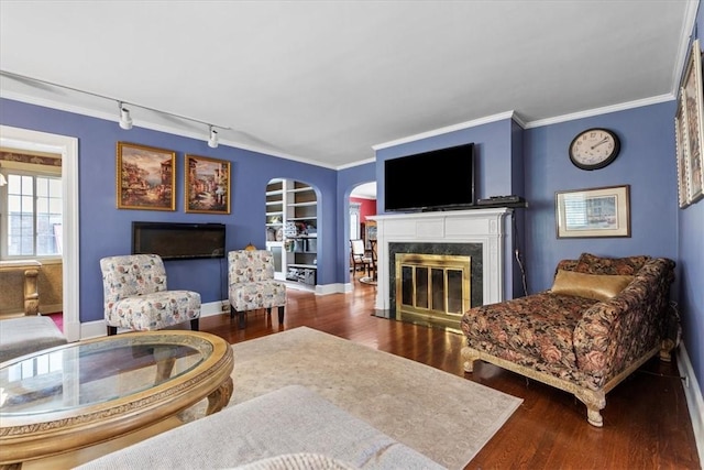
{"label": "bright multi-paned window seen through the white-trimmed doorway at left", "polygon": [[2,198],[2,258],[62,255],[62,178],[8,170]]}

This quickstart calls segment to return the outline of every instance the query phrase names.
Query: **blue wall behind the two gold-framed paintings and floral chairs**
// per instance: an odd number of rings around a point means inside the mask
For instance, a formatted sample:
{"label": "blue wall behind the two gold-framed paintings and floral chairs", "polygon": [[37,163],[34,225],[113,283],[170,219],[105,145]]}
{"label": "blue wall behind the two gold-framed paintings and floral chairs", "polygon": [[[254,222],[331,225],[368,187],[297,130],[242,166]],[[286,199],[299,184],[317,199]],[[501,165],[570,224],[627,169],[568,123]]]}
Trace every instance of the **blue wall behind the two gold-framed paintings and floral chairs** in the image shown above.
{"label": "blue wall behind the two gold-framed paintings and floral chairs", "polygon": [[[337,172],[262,153],[205,141],[133,128],[121,130],[116,122],[3,99],[0,123],[15,128],[69,135],[78,139],[80,204],[80,321],[99,320],[102,314],[102,281],[99,260],[131,251],[133,220],[220,222],[227,225],[227,250],[252,242],[265,244],[265,190],[271,178],[285,177],[311,184],[318,194],[318,275],[320,284],[337,281]],[[176,154],[176,210],[124,210],[116,204],[117,142],[169,149]],[[184,212],[184,155],[222,159],[231,164],[231,214]],[[227,298],[227,261],[168,261],[170,288],[188,288],[204,302]]]}

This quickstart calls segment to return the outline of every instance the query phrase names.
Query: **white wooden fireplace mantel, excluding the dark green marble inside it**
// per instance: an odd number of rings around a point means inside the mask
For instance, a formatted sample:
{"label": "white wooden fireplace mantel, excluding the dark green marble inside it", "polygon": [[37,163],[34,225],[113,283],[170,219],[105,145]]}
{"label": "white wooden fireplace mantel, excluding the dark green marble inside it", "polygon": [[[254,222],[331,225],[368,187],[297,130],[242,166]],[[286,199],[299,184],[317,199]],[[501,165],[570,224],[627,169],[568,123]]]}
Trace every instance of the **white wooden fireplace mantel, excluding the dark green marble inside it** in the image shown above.
{"label": "white wooden fireplace mantel, excluding the dark green marble inside it", "polygon": [[367,217],[376,221],[376,314],[389,317],[389,243],[482,244],[484,304],[504,300],[504,219],[510,208],[393,214]]}

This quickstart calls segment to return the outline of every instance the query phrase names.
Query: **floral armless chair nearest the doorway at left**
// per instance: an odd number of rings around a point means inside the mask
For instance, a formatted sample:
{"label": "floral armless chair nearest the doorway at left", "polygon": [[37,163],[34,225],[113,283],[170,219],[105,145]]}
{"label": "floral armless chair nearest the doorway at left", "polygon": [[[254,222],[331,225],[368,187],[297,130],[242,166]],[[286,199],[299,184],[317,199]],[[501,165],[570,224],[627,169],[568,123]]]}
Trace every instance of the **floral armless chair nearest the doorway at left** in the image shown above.
{"label": "floral armless chair nearest the doorway at left", "polygon": [[108,256],[100,260],[100,270],[108,335],[116,335],[118,328],[148,331],[186,321],[198,330],[200,294],[168,291],[161,256]]}

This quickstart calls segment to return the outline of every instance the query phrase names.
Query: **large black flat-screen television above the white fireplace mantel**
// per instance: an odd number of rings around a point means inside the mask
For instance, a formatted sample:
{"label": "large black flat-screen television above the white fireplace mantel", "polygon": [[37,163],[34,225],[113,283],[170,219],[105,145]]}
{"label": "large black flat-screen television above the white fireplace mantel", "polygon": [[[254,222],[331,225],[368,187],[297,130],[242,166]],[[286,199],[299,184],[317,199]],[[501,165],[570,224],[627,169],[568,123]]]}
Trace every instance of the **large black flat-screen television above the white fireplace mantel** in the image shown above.
{"label": "large black flat-screen television above the white fireplace mantel", "polygon": [[474,144],[384,162],[384,210],[418,211],[473,206]]}

